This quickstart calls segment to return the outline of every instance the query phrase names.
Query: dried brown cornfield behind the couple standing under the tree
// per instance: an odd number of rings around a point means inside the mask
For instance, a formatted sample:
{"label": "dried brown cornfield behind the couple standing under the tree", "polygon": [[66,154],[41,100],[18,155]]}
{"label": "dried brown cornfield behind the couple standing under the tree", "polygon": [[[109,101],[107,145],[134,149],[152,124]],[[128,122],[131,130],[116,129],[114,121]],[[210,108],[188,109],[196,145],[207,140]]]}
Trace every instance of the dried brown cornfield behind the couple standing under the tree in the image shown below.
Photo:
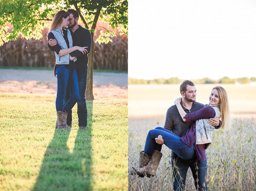
{"label": "dried brown cornfield behind the couple standing under the tree", "polygon": [[[55,55],[47,47],[48,28],[40,40],[19,37],[0,47],[1,66],[53,67]],[[94,44],[94,68],[128,70],[128,36],[111,37],[113,43]]]}

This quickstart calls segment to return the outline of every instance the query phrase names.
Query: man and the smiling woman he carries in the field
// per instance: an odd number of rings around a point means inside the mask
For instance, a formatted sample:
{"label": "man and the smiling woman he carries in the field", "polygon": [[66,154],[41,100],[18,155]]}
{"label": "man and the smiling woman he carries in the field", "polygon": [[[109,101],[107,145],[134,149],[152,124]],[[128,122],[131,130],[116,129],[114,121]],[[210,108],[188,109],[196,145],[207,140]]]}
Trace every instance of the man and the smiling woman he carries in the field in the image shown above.
{"label": "man and the smiling woman he carries in the field", "polygon": [[212,131],[229,127],[231,118],[224,88],[214,87],[206,105],[195,101],[196,92],[195,84],[190,80],[180,85],[181,98],[167,110],[164,128],[157,127],[148,132],[144,151],[139,153],[137,166],[129,167],[130,174],[139,177],[156,175],[162,157],[160,151],[165,144],[172,150],[174,190],[185,189],[189,167],[196,189],[207,190],[205,150],[212,143]]}

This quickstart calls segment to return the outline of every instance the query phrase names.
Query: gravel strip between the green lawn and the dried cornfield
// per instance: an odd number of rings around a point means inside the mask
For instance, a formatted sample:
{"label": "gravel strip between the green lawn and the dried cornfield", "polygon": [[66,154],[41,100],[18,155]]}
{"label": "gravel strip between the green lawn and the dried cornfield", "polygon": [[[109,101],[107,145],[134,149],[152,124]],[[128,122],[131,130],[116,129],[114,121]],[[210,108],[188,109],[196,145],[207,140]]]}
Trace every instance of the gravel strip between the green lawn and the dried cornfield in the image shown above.
{"label": "gravel strip between the green lawn and the dried cornfield", "polygon": [[[57,78],[50,70],[0,69],[0,92],[56,94]],[[127,73],[93,73],[94,99],[112,97],[127,99]]]}

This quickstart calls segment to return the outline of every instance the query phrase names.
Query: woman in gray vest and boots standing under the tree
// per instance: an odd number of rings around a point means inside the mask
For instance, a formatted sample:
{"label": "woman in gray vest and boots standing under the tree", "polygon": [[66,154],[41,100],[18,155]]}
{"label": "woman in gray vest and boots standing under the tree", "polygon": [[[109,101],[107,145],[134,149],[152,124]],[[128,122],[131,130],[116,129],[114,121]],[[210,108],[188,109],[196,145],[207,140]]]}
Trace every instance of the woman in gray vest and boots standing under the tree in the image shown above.
{"label": "woman in gray vest and boots standing under the tree", "polygon": [[[72,56],[75,51],[86,52],[86,47],[74,46],[76,43],[73,33],[67,29],[69,24],[69,13],[65,10],[57,12],[52,20],[48,33],[49,39],[56,39],[57,44],[53,47],[55,51],[56,64],[54,66],[54,75],[57,77],[57,97],[56,128],[70,129],[67,126],[67,114],[74,107],[79,99],[79,89],[77,80],[77,71],[75,61],[77,58]],[[70,90],[70,99],[63,106],[67,86]]]}

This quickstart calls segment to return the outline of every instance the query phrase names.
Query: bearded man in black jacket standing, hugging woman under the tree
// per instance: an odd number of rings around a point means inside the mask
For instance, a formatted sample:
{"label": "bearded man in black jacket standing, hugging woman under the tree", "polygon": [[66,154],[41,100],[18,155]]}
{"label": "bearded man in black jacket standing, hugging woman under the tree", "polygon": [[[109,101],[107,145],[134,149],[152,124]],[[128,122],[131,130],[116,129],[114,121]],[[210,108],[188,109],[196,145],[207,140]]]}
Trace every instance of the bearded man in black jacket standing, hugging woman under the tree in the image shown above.
{"label": "bearded man in black jacket standing, hugging woman under the tree", "polygon": [[[79,100],[77,101],[77,115],[78,115],[78,126],[80,130],[86,129],[87,126],[87,108],[85,100],[85,90],[87,82],[87,69],[88,69],[88,54],[91,50],[92,37],[88,29],[85,29],[78,25],[77,20],[79,18],[78,12],[74,9],[67,10],[69,12],[69,29],[71,33],[73,32],[74,36],[77,39],[78,46],[88,47],[86,48],[87,52],[81,55],[81,52],[75,51],[70,53],[71,57],[77,57],[77,78],[79,86]],[[57,44],[55,39],[49,39],[48,48],[51,51],[53,46]],[[69,88],[67,87],[66,97],[64,99],[64,105],[69,100],[70,93]],[[72,124],[72,110],[67,116],[67,125],[71,126]]]}

